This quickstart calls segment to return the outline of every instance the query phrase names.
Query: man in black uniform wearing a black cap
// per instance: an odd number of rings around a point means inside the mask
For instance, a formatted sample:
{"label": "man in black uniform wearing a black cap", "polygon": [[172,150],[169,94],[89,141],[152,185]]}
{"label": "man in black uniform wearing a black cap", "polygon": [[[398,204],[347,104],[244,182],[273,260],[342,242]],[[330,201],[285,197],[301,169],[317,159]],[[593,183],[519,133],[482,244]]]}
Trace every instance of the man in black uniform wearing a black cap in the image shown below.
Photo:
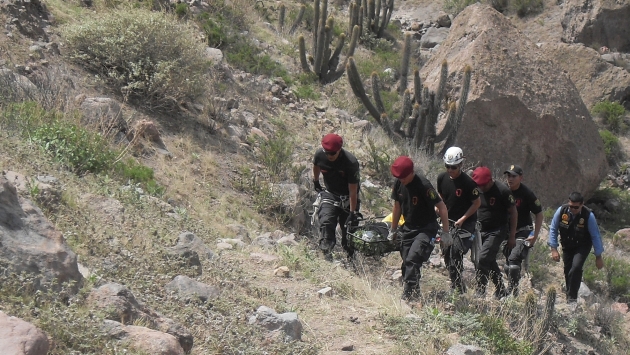
{"label": "man in black uniform wearing a black cap", "polygon": [[[518,283],[521,279],[521,264],[527,259],[529,248],[534,246],[540,233],[543,221],[542,206],[534,192],[523,181],[523,169],[518,165],[512,165],[504,174],[507,176],[508,186],[512,190],[518,222],[516,222],[516,245],[514,248],[503,250],[506,264],[504,271],[509,280],[508,294],[518,296]],[[536,224],[532,227],[532,216],[536,216]]]}

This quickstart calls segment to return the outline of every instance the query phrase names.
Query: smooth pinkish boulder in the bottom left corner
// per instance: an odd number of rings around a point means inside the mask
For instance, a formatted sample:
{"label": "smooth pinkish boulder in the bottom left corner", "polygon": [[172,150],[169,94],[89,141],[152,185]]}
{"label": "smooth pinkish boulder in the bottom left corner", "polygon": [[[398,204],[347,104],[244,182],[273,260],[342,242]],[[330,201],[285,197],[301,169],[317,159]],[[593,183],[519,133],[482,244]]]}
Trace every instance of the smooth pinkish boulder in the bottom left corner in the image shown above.
{"label": "smooth pinkish boulder in the bottom left corner", "polygon": [[0,311],[0,349],[2,354],[46,355],[48,338],[36,326]]}

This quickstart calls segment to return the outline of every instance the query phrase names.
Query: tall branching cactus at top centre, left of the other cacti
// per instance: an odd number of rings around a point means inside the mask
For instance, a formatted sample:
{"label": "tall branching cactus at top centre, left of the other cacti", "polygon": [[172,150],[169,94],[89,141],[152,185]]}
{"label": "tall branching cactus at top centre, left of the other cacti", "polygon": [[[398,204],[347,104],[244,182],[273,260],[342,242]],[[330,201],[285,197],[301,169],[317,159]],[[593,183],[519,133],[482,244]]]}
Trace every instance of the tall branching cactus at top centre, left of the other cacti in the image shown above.
{"label": "tall branching cactus at top centre, left of the other cacti", "polygon": [[[333,40],[333,17],[328,17],[328,2],[326,0],[321,2],[315,0],[315,23],[313,28],[313,43],[312,43],[312,55],[306,58],[306,43],[304,36],[298,38],[298,47],[300,52],[300,63],[302,70],[310,73],[314,72],[319,81],[323,84],[331,83],[341,77],[345,70],[345,65],[339,66],[339,56],[345,43],[346,35],[342,33],[337,40],[337,46],[334,51],[331,49]],[[352,37],[350,38],[350,45],[348,48],[348,57],[354,55],[356,44],[359,40],[360,28],[355,26],[352,31]],[[310,65],[309,65],[310,63]],[[312,65],[312,69],[311,69]]]}

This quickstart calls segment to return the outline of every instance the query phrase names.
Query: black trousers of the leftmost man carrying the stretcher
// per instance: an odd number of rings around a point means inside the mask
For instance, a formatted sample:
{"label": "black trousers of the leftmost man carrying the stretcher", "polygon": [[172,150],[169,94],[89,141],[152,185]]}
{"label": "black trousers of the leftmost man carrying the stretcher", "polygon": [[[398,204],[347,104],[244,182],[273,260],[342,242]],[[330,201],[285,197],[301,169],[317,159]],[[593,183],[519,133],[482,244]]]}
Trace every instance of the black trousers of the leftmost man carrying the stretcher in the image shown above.
{"label": "black trousers of the leftmost man carrying the stretcher", "polygon": [[[337,224],[341,226],[341,246],[348,253],[352,255],[354,249],[348,243],[348,231],[346,230],[346,219],[350,215],[350,210],[344,208],[344,204],[341,198],[328,191],[322,191],[322,203],[319,206],[318,218],[319,218],[319,247],[324,252],[331,252],[337,243],[336,229]],[[335,201],[335,204],[324,202],[325,200]],[[349,205],[349,204],[348,204]],[[357,202],[357,210],[359,209],[359,202]],[[353,222],[353,226],[358,225],[358,222]]]}

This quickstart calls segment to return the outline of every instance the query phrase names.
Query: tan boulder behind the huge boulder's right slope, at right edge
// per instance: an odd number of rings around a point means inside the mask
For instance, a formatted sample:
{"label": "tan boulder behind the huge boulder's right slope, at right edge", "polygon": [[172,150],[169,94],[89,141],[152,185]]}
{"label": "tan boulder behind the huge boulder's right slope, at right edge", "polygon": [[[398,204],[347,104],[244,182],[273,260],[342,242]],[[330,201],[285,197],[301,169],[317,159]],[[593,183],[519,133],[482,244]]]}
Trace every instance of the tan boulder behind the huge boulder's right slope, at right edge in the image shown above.
{"label": "tan boulder behind the huge boulder's right slope, at right edge", "polygon": [[630,109],[630,73],[604,60],[596,50],[580,44],[544,43],[544,55],[571,78],[587,108],[602,100]]}

